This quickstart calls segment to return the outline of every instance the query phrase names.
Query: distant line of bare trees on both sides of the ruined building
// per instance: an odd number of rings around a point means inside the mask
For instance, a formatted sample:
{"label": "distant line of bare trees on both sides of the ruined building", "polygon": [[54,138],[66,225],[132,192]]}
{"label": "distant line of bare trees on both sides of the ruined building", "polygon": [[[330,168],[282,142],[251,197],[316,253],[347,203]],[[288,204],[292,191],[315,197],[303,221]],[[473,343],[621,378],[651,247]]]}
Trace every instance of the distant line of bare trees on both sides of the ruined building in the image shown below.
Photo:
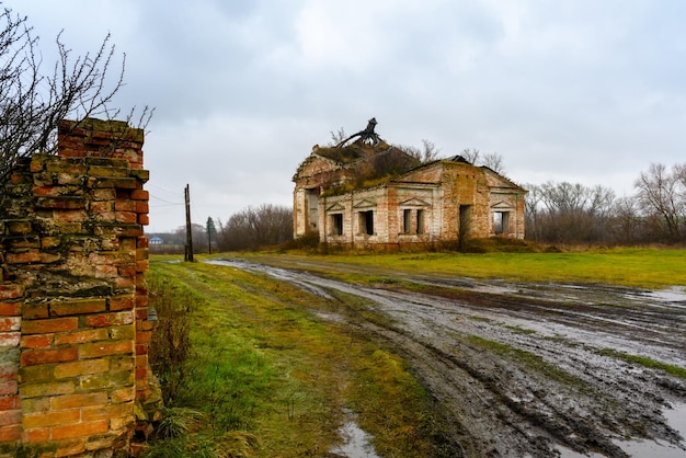
{"label": "distant line of bare trees on both sides of the ruined building", "polygon": [[[524,184],[526,239],[552,244],[632,245],[686,242],[686,163],[671,169],[653,163],[634,182],[636,193],[617,197],[606,186],[568,182]],[[185,228],[160,234],[153,252],[183,253]],[[293,240],[293,209],[263,204],[231,215],[226,224],[208,218],[193,225],[196,253],[253,250]]]}

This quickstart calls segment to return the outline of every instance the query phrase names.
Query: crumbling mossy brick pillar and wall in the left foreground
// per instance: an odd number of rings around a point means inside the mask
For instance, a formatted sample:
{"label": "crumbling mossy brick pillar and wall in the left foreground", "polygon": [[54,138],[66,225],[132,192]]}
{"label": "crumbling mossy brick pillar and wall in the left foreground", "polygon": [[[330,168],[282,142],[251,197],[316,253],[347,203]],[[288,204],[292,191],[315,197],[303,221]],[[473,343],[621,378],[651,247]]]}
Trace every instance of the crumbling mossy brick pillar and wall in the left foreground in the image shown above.
{"label": "crumbling mossy brick pillar and wall in the left foreground", "polygon": [[[144,133],[62,122],[0,202],[0,455],[125,448],[148,396]],[[105,451],[106,453],[106,451]]]}

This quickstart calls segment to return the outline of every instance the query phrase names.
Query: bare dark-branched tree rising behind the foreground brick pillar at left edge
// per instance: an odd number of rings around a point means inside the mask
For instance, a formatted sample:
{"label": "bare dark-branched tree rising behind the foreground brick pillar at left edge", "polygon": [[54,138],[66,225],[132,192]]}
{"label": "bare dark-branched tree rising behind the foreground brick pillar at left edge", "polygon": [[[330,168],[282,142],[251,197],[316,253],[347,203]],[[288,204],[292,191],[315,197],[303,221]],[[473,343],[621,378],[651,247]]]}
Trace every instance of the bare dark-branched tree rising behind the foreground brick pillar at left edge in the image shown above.
{"label": "bare dark-branched tree rising behind the foreground brick pillar at left edge", "polygon": [[[27,25],[27,18],[2,8],[0,21],[1,185],[19,159],[36,151],[56,150],[56,129],[61,119],[121,116],[110,105],[124,83],[126,56],[111,78],[115,48],[110,34],[96,51],[77,57],[58,35],[59,57],[46,75],[42,70],[38,37]],[[134,112],[132,108],[126,121],[133,121]],[[136,127],[145,127],[151,115],[152,110],[144,107]]]}

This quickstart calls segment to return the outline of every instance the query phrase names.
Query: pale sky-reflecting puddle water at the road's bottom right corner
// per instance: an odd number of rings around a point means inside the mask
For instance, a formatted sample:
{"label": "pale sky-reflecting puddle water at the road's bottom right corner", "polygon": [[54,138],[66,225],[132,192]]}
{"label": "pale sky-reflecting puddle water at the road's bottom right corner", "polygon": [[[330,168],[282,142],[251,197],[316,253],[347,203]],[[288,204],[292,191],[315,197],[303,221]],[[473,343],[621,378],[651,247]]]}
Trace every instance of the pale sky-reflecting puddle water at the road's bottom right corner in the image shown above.
{"label": "pale sky-reflecting puddle water at the road's bottom right corner", "polygon": [[[686,404],[674,405],[673,409],[663,412],[666,422],[682,435],[682,445],[686,438]],[[664,440],[617,440],[615,442],[630,457],[650,458],[684,458],[686,450]],[[561,446],[557,447],[561,458],[603,458],[604,455],[582,455]]]}

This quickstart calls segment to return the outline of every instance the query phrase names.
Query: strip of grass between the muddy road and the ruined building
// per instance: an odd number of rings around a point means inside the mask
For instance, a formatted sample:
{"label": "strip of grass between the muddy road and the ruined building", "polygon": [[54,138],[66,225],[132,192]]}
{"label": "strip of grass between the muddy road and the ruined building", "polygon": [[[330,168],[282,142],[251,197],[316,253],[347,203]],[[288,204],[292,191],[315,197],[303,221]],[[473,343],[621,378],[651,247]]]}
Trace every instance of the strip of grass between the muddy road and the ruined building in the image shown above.
{"label": "strip of grass between the muddy road and the ruined building", "polygon": [[[359,266],[382,273],[432,273],[475,278],[508,278],[525,282],[565,282],[664,288],[686,287],[686,250],[611,249],[564,253],[338,253],[268,254],[241,256],[271,260],[282,265],[324,262]],[[317,270],[316,266],[310,268]],[[325,267],[323,272],[330,271]],[[354,273],[346,279],[354,279]]]}

